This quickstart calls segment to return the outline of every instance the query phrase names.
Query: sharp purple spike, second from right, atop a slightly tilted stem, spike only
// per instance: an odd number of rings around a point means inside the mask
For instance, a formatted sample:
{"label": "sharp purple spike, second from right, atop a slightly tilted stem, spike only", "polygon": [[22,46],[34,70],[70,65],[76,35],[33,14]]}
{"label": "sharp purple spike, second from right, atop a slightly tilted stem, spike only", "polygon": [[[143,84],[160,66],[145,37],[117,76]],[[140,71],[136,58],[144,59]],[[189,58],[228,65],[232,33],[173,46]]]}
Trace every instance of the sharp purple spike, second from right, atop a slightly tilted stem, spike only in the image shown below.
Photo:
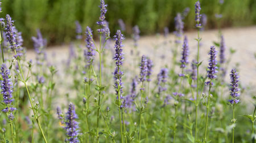
{"label": "sharp purple spike, second from right, atop a slightly tilted stem, spike only", "polygon": [[210,59],[209,59],[209,66],[208,66],[208,71],[207,71],[207,76],[210,80],[215,79],[217,76],[215,75],[215,73],[217,73],[217,69],[218,67],[217,65],[217,51],[215,49],[214,46],[210,46]]}

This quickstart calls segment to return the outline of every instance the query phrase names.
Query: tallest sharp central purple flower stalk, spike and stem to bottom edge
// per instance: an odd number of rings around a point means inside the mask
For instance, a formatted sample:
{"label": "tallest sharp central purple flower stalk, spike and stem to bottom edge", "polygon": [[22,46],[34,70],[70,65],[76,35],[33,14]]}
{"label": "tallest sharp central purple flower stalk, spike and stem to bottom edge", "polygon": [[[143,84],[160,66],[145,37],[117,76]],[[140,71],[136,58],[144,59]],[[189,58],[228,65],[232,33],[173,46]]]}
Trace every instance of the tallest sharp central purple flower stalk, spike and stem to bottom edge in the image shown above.
{"label": "tallest sharp central purple flower stalk, spike and stem to bottom edge", "polygon": [[121,131],[121,142],[123,142],[123,130],[122,130],[122,117],[121,117],[121,106],[122,106],[122,93],[123,93],[123,83],[122,83],[122,76],[123,72],[121,71],[121,66],[123,65],[123,34],[121,31],[117,31],[114,36],[115,39],[115,54],[113,59],[115,60],[115,71],[114,71],[114,88],[115,94],[117,95],[117,105],[119,111],[119,124],[120,124],[120,131]]}

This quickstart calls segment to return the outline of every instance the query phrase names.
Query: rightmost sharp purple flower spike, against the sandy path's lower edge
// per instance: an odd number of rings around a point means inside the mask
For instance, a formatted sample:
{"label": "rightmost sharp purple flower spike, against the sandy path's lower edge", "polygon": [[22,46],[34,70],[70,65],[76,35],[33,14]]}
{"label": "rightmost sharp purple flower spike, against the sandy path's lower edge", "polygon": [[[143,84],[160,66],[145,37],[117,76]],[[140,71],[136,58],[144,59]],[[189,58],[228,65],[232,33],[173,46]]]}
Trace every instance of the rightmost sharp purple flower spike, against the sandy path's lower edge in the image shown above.
{"label": "rightmost sharp purple flower spike, against the sandy path's lower edge", "polygon": [[231,70],[231,73],[230,73],[230,96],[232,96],[232,99],[229,100],[229,102],[231,104],[237,104],[238,102],[240,102],[240,99],[237,99],[237,97],[240,96],[240,94],[238,93],[240,91],[240,89],[238,88],[238,72],[236,71],[235,68],[233,68]]}

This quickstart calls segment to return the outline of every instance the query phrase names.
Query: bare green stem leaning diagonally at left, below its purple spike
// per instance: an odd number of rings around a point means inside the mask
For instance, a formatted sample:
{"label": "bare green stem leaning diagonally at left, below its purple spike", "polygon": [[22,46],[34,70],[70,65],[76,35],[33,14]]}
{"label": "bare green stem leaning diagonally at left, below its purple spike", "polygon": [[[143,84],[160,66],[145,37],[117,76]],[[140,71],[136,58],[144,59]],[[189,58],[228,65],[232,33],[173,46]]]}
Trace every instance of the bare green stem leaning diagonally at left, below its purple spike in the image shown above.
{"label": "bare green stem leaning diagonally at left, below its purple spike", "polygon": [[[16,49],[14,49],[14,53],[15,53],[15,55],[17,54],[17,53],[16,53]],[[21,66],[20,66],[19,59],[18,59],[18,65],[19,65],[20,73],[22,74],[23,83],[24,83],[24,85],[25,85],[25,87],[26,87],[26,89],[27,89],[28,99],[30,100],[31,109],[32,109],[32,111],[33,111],[33,113],[34,113],[34,117],[35,117],[36,123],[38,124],[38,127],[39,127],[39,129],[40,129],[40,132],[41,132],[43,138],[44,138],[44,141],[47,143],[46,136],[44,136],[43,129],[42,129],[42,127],[41,127],[41,125],[40,125],[40,122],[39,122],[39,119],[38,119],[38,115],[36,115],[36,111],[35,111],[34,105],[33,105],[33,103],[32,103],[32,99],[31,99],[31,96],[30,96],[30,92],[29,92],[29,90],[28,90],[27,83],[26,83],[26,80],[25,80],[25,78],[24,78],[23,71],[22,71],[22,68],[21,68]]]}

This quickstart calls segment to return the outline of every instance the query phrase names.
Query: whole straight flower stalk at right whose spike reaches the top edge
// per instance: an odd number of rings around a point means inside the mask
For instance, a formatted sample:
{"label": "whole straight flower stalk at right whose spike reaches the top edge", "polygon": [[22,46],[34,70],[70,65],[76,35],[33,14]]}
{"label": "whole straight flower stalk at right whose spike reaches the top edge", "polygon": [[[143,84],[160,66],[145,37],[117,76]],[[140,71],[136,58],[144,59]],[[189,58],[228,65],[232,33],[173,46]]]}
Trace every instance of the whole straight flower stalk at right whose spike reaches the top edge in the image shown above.
{"label": "whole straight flower stalk at right whose spike reaches the top edge", "polygon": [[201,28],[201,24],[200,24],[200,18],[201,18],[201,14],[200,14],[200,10],[201,10],[201,6],[200,6],[200,2],[197,1],[195,4],[195,13],[196,13],[196,28],[197,28],[197,80],[196,80],[196,123],[195,123],[195,140],[197,140],[197,113],[198,113],[198,106],[199,106],[199,47],[200,47],[200,41],[201,38],[199,36],[199,32],[200,32],[200,28]]}

